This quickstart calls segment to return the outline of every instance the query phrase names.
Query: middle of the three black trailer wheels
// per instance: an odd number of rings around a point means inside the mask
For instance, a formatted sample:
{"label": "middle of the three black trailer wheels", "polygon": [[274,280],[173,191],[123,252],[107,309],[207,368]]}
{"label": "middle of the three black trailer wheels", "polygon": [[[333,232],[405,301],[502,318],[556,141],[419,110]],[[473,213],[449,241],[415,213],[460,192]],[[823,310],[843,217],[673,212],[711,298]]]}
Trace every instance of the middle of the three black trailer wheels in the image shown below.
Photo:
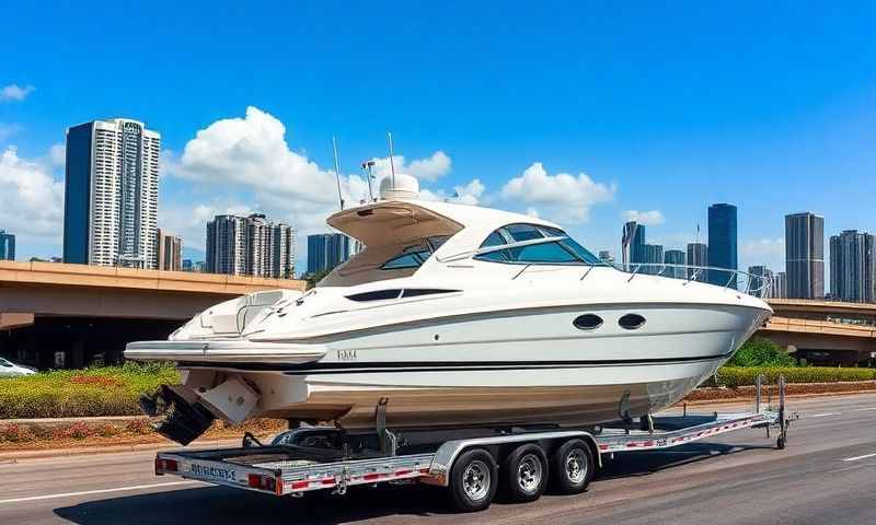
{"label": "middle of the three black trailer wheels", "polygon": [[502,495],[508,501],[535,501],[548,488],[548,456],[535,444],[520,445],[502,462]]}

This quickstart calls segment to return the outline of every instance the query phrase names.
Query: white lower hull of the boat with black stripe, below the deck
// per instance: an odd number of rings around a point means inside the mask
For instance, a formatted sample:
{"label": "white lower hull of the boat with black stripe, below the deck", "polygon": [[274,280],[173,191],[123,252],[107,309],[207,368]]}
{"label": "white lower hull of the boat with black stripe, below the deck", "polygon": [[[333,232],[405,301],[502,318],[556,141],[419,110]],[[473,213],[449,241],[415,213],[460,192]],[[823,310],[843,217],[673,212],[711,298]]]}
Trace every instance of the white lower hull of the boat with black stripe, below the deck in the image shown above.
{"label": "white lower hull of the boat with black stripe, below the deck", "polygon": [[[631,332],[616,324],[630,311],[579,306],[456,318],[452,330],[443,322],[419,323],[319,341],[322,359],[283,371],[227,370],[257,388],[257,411],[266,417],[369,428],[387,398],[393,428],[596,424],[677,402],[766,315],[726,305],[642,306],[635,312],[646,326]],[[606,326],[598,334],[576,329],[572,319],[581,312],[597,313]],[[215,381],[205,372],[192,375],[193,389]]]}

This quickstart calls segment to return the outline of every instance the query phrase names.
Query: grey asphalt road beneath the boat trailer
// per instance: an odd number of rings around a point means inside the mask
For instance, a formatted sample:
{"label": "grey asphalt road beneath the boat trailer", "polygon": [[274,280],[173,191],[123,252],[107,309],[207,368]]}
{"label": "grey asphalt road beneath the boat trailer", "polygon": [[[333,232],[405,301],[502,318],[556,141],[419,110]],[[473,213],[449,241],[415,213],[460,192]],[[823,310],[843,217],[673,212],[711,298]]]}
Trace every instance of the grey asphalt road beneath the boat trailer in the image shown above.
{"label": "grey asphalt road beneath the boat trailer", "polygon": [[784,451],[763,430],[744,430],[629,453],[584,494],[477,514],[451,513],[440,489],[425,486],[295,500],[155,477],[153,453],[138,452],[0,464],[0,523],[876,523],[876,395],[794,399],[789,408],[803,419]]}

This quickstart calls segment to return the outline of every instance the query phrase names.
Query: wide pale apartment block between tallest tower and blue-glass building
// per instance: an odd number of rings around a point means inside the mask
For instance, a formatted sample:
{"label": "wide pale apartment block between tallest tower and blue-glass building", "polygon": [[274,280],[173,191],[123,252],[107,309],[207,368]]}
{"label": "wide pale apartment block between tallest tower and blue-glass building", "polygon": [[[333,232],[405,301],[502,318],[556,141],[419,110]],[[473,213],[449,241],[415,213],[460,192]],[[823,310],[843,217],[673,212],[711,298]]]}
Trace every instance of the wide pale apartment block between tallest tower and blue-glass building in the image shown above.
{"label": "wide pale apartment block between tallest tower and blue-glass building", "polygon": [[216,215],[207,223],[206,270],[231,276],[290,279],[295,272],[295,231],[264,214]]}

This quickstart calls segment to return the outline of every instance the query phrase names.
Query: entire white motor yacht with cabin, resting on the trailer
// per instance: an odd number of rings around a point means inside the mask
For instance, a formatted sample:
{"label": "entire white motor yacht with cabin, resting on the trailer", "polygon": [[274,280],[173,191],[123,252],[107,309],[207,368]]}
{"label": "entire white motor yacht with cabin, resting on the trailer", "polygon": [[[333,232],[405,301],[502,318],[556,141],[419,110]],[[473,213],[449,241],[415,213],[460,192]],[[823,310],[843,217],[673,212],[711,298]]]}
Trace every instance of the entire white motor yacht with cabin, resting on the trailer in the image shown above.
{"label": "entire white motor yacht with cabin, resting on the trailer", "polygon": [[772,313],[731,287],[619,269],[552,222],[389,178],[328,218],[365,249],[315,288],[231,300],[127,346],[182,371],[142,399],[160,432],[186,444],[215,418],[255,417],[373,429],[381,412],[393,429],[632,421],[679,401]]}

